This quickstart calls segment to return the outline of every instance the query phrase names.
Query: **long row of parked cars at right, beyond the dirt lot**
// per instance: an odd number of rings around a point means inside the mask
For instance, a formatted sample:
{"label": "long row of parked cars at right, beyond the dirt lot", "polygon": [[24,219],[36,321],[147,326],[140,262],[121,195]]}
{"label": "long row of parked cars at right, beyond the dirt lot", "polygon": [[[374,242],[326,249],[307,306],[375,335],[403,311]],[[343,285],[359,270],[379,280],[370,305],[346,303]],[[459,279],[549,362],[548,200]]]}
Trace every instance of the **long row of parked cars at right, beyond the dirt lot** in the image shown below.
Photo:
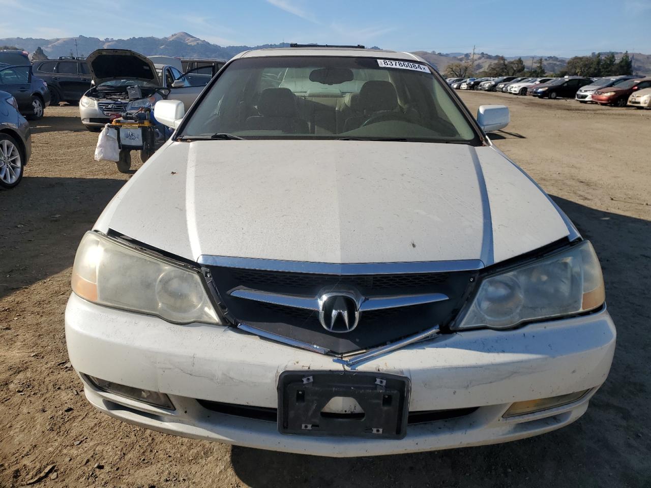
{"label": "long row of parked cars at right, beyond the dirt lot", "polygon": [[588,78],[513,77],[449,78],[455,90],[486,90],[538,98],[574,98],[581,103],[651,108],[651,77],[633,75]]}

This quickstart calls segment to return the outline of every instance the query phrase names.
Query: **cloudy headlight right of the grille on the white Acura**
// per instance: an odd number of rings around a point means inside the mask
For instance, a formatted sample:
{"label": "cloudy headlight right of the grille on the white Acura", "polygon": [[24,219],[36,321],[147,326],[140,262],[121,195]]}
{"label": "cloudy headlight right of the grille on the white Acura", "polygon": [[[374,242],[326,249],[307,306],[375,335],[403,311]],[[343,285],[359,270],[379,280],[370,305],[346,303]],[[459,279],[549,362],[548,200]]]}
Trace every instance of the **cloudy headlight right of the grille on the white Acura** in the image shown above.
{"label": "cloudy headlight right of the grille on the white Acura", "polygon": [[519,323],[594,310],[603,305],[602,268],[589,241],[484,278],[454,330],[508,329]]}

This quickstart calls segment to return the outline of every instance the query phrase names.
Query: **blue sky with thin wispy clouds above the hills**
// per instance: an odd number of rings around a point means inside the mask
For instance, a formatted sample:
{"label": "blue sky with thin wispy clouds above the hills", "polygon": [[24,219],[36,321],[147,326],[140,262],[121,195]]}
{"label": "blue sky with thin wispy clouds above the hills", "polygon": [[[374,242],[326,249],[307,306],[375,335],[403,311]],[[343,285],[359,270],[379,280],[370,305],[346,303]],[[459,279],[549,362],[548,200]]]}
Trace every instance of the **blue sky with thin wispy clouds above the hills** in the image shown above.
{"label": "blue sky with thin wispy clouds above the hills", "polygon": [[[534,8],[538,7],[538,8]],[[651,54],[651,0],[0,0],[0,38],[164,37],[570,57]]]}

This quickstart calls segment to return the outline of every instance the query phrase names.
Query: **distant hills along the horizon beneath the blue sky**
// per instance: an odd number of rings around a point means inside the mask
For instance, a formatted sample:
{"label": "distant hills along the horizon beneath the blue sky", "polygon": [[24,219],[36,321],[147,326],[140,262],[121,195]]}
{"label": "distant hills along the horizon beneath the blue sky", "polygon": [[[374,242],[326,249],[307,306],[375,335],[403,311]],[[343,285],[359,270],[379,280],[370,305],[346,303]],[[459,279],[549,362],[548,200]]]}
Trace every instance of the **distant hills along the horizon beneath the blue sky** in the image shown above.
{"label": "distant hills along the horizon beneath the blue sky", "polygon": [[[75,46],[75,40],[77,46]],[[68,37],[57,39],[35,39],[35,38],[5,38],[0,39],[0,45],[7,44],[18,46],[30,53],[36,50],[36,47],[42,47],[43,51],[49,58],[67,56],[72,52],[74,55],[88,55],[95,49],[132,49],[145,55],[167,55],[178,57],[207,57],[230,59],[234,55],[246,51],[247,49],[259,49],[260,47],[288,47],[289,44],[264,44],[262,46],[219,46],[211,44],[206,40],[188,34],[179,32],[169,37],[132,37],[129,39],[99,39],[96,37]],[[470,61],[471,53],[437,53],[436,51],[414,51],[423,59],[430,62],[437,70],[445,71],[445,66],[451,62]],[[622,53],[615,53],[619,58]],[[636,74],[651,75],[651,55],[641,53],[631,53],[633,57],[633,66]],[[517,56],[511,56],[507,59],[515,59]],[[475,73],[487,68],[497,59],[497,55],[488,53],[475,53]],[[543,56],[543,65],[547,72],[558,72],[564,68],[568,58],[556,56]],[[538,56],[522,56],[525,66],[535,65]]]}

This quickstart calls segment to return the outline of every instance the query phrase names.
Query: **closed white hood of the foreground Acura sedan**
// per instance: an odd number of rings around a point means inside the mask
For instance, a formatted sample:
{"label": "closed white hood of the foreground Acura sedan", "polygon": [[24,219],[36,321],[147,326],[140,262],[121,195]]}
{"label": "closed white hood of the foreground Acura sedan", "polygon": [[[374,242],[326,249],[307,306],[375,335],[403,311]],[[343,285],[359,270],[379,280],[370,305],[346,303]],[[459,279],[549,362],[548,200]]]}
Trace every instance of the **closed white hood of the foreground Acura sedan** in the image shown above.
{"label": "closed white hood of the foreground Acura sedan", "polygon": [[95,228],[193,261],[490,265],[567,236],[564,219],[491,146],[195,141],[158,150]]}

